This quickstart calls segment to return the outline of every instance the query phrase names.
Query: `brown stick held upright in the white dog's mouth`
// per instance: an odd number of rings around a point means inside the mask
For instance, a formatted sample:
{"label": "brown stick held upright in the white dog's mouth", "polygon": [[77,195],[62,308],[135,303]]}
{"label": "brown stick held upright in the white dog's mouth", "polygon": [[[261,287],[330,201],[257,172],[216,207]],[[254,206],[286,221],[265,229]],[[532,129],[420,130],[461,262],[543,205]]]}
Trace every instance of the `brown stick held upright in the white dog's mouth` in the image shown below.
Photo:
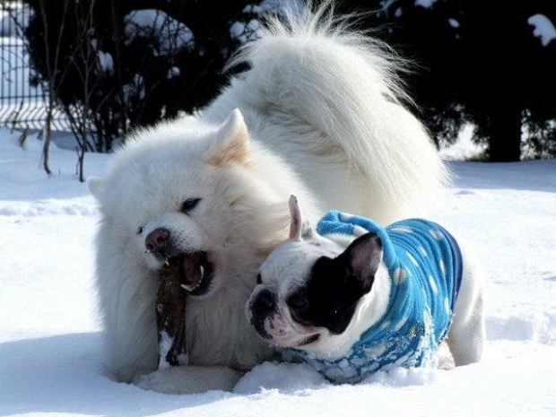
{"label": "brown stick held upright in the white dog's mouth", "polygon": [[159,368],[187,365],[186,298],[187,291],[180,285],[180,266],[162,268],[156,301]]}

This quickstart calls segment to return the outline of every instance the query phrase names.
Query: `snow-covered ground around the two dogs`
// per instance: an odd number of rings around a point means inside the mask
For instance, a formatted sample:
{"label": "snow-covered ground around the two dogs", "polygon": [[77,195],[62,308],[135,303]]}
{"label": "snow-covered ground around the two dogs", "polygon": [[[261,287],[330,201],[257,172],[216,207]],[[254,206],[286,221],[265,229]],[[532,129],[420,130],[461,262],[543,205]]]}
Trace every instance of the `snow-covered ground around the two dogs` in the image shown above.
{"label": "snow-covered ground around the two dogs", "polygon": [[[556,415],[556,161],[455,162],[430,218],[473,243],[487,278],[482,363],[399,370],[334,387],[301,365],[265,363],[234,393],[161,395],[118,384],[100,357],[92,285],[98,219],[75,154],[23,151],[0,130],[0,415]],[[109,157],[87,155],[86,174]]]}

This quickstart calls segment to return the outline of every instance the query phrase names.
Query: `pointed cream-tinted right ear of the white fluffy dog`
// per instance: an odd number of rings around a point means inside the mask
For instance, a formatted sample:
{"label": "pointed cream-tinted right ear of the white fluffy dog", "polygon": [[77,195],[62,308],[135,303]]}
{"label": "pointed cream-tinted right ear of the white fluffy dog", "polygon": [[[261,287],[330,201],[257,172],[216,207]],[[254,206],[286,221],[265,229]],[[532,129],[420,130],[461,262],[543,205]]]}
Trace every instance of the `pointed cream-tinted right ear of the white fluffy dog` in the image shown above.
{"label": "pointed cream-tinted right ear of the white fluffy dog", "polygon": [[219,143],[216,146],[211,163],[213,165],[225,165],[236,162],[241,165],[248,164],[249,133],[239,109],[235,109],[224,121],[219,132]]}

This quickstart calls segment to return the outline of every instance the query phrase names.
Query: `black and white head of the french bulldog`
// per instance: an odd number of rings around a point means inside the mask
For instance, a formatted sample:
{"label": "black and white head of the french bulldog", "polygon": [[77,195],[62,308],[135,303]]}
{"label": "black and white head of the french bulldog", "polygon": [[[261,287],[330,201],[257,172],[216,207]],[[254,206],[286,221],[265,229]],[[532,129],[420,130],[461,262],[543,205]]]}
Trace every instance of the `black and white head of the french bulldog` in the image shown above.
{"label": "black and white head of the french bulldog", "polygon": [[290,239],[261,265],[246,312],[268,343],[281,347],[326,347],[352,321],[382,261],[378,236],[369,233],[347,248],[314,233],[290,199]]}

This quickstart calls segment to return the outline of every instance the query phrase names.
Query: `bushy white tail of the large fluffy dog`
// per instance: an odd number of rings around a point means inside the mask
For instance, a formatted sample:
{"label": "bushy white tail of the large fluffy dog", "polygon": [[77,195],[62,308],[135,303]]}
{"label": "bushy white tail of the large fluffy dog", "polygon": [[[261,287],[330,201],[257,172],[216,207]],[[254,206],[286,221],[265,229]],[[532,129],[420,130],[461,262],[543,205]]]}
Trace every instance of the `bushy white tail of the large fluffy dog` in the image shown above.
{"label": "bushy white tail of the large fluffy dog", "polygon": [[254,92],[245,94],[256,108],[316,128],[370,178],[378,197],[393,209],[406,207],[447,183],[447,171],[424,127],[404,108],[411,100],[396,75],[404,61],[329,10],[325,4],[314,13],[270,18],[230,65],[250,65],[246,83]]}

